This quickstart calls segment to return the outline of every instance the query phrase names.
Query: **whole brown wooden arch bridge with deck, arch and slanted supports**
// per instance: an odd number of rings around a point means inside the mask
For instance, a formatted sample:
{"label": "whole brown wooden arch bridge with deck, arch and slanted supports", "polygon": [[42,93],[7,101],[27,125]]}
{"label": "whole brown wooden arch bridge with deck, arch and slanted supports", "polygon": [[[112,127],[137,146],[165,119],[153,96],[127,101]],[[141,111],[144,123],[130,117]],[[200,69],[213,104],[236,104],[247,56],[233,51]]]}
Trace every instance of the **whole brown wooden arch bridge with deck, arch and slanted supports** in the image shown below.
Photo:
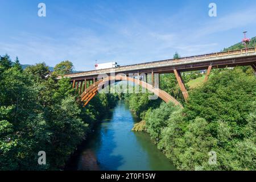
{"label": "whole brown wooden arch bridge with deck, arch and slanted supports", "polygon": [[[76,88],[77,92],[81,94],[81,100],[84,102],[84,106],[104,88],[106,82],[126,80],[135,82],[143,88],[150,90],[150,92],[156,94],[165,102],[173,102],[175,105],[182,107],[170,94],[155,87],[154,80],[156,76],[162,73],[174,73],[184,100],[187,101],[188,92],[181,77],[181,72],[207,70],[204,80],[207,81],[212,68],[228,68],[244,65],[251,66],[256,73],[256,47],[181,57],[180,59],[151,61],[148,63],[125,65],[118,68],[71,73],[64,75],[64,77],[71,78],[73,88]],[[123,74],[124,76],[118,76],[119,74]],[[105,75],[105,77],[98,79],[98,75]],[[151,84],[147,83],[147,79],[146,82],[142,81],[141,75],[146,75],[146,78],[150,75]],[[60,78],[62,77],[58,77],[57,79]]]}

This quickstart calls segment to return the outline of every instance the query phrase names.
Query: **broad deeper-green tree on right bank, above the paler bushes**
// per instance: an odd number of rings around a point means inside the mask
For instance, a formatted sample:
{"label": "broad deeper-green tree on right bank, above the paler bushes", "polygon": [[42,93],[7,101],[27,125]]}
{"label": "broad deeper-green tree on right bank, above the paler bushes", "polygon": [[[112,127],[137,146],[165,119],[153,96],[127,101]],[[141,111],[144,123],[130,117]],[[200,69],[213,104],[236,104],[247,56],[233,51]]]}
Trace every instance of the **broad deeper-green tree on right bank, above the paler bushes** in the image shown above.
{"label": "broad deeper-green tree on right bank, above the paler bushes", "polygon": [[[189,93],[185,105],[187,119],[204,117],[207,121],[226,121],[243,125],[253,109],[256,96],[256,78],[247,76],[240,68],[213,75],[200,88]],[[237,131],[238,132],[238,131]]]}

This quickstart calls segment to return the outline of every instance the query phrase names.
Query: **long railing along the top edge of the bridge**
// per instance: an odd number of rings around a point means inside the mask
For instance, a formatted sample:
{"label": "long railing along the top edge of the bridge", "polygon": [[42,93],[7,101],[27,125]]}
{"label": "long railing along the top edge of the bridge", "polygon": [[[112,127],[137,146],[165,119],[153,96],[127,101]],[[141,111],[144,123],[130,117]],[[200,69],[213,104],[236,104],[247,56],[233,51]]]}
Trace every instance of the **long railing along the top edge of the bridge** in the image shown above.
{"label": "long railing along the top edge of the bridge", "polygon": [[238,49],[234,51],[225,51],[225,52],[216,52],[216,53],[208,53],[205,55],[197,55],[197,56],[188,56],[188,57],[181,57],[179,59],[168,59],[168,60],[160,60],[160,61],[151,61],[147,63],[139,63],[139,64],[132,64],[132,65],[125,65],[121,66],[118,68],[106,68],[106,69],[100,69],[100,70],[93,70],[93,71],[85,71],[85,72],[80,72],[80,73],[72,73],[65,75],[65,77],[69,76],[80,76],[84,74],[100,74],[100,73],[106,73],[106,72],[119,72],[125,69],[130,69],[130,68],[137,68],[138,66],[140,67],[147,67],[150,65],[159,65],[159,64],[166,64],[166,63],[177,63],[177,62],[182,62],[182,61],[191,61],[191,60],[201,60],[201,59],[207,59],[207,58],[213,58],[213,57],[221,57],[221,56],[232,56],[232,55],[240,55],[240,54],[245,54],[245,53],[251,53],[251,52],[256,52],[256,47],[253,48],[247,48],[245,49]]}

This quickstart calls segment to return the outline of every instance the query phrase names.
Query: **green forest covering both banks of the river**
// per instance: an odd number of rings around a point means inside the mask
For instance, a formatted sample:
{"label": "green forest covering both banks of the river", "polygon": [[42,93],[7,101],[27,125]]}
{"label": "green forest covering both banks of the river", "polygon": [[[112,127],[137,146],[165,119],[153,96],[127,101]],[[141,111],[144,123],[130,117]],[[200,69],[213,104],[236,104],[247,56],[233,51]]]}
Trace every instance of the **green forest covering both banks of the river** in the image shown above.
{"label": "green forest covering both banks of the river", "polygon": [[[82,107],[69,78],[56,81],[73,72],[70,61],[57,64],[54,71],[45,63],[23,68],[18,57],[0,57],[0,170],[63,169],[119,98],[141,119],[133,130],[147,132],[177,169],[256,168],[256,77],[251,67],[213,69],[205,83],[199,72],[182,73],[187,102],[175,75],[160,75],[159,88],[184,109],[160,98],[148,100],[150,93],[100,93]],[[191,86],[196,80],[199,84]],[[46,165],[38,165],[39,151],[46,151]],[[214,164],[209,162],[212,152]]]}

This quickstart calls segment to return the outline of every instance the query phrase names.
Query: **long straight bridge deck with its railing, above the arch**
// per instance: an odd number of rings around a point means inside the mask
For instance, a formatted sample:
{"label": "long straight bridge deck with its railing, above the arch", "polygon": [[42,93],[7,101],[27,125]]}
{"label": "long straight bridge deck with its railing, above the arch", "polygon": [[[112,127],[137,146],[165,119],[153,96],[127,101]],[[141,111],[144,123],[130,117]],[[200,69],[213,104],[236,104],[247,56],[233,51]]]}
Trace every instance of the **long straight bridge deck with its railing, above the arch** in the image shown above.
{"label": "long straight bridge deck with its railing, above the arch", "polygon": [[[110,75],[110,73],[170,73],[174,69],[180,71],[194,71],[207,69],[209,65],[216,68],[234,67],[236,65],[253,65],[256,62],[256,47],[239,49],[236,51],[209,53],[206,55],[181,57],[180,59],[168,59],[162,61],[152,61],[148,63],[126,65],[118,68],[108,68],[101,70],[85,71],[65,75],[72,80],[81,78],[94,78],[100,74]],[[58,77],[60,78],[60,77]]]}

